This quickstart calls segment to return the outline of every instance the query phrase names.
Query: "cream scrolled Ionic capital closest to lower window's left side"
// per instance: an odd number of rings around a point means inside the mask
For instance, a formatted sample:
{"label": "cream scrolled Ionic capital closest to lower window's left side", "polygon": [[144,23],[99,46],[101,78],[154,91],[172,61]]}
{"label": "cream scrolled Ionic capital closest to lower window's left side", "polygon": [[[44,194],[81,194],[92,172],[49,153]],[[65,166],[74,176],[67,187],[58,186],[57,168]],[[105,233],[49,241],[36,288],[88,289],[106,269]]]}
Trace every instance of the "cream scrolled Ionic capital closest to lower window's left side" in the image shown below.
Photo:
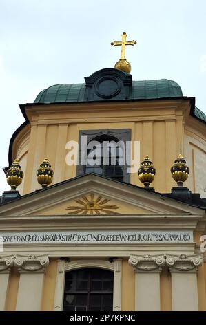
{"label": "cream scrolled Ionic capital closest to lower window's left side", "polygon": [[20,273],[24,272],[44,272],[45,267],[50,263],[48,255],[17,255],[14,256],[14,266]]}

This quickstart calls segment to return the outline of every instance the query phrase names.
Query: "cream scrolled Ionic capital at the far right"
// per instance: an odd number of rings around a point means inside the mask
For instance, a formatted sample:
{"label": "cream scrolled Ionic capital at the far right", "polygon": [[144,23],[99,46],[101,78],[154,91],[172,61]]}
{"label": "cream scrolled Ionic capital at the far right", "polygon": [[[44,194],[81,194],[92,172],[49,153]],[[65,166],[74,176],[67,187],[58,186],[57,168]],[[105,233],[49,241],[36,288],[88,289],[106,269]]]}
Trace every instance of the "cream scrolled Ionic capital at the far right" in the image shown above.
{"label": "cream scrolled Ionic capital at the far right", "polygon": [[198,266],[203,263],[203,257],[200,254],[167,254],[165,259],[170,272],[197,272]]}

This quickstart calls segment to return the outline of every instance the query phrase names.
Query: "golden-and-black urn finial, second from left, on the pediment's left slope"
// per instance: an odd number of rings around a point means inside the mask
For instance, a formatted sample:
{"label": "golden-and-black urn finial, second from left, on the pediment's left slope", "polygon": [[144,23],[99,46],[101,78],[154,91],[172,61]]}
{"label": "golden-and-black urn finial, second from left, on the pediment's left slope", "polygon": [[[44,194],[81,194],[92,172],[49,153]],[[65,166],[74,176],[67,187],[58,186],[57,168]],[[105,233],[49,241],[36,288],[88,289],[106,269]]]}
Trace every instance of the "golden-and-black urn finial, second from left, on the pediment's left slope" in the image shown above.
{"label": "golden-and-black urn finial, second from left, on the pediment's left slope", "polygon": [[44,158],[39,169],[37,169],[37,180],[42,188],[48,187],[52,183],[54,171],[51,168],[48,158]]}

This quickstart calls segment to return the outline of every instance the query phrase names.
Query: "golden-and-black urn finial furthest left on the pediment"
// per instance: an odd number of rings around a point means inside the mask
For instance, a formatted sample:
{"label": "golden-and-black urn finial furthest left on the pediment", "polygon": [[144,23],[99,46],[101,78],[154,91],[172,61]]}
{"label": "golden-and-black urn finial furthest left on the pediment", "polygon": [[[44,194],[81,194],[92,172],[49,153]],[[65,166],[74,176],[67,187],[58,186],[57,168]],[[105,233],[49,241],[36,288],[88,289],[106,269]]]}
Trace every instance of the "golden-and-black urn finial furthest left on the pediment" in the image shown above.
{"label": "golden-and-black urn finial furthest left on the pediment", "polygon": [[8,185],[10,185],[12,191],[15,191],[17,186],[21,184],[22,179],[23,179],[23,171],[21,170],[19,161],[15,159],[10,169],[6,171],[6,180]]}

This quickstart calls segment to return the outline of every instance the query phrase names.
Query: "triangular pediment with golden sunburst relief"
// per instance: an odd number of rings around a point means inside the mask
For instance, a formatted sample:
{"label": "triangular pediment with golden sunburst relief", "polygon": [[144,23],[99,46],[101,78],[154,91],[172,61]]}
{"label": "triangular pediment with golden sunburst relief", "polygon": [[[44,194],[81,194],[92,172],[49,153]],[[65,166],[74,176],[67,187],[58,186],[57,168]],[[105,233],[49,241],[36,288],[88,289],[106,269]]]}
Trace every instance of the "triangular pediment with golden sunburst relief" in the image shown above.
{"label": "triangular pediment with golden sunburst relief", "polygon": [[198,213],[196,207],[94,174],[66,180],[0,206],[0,216]]}

